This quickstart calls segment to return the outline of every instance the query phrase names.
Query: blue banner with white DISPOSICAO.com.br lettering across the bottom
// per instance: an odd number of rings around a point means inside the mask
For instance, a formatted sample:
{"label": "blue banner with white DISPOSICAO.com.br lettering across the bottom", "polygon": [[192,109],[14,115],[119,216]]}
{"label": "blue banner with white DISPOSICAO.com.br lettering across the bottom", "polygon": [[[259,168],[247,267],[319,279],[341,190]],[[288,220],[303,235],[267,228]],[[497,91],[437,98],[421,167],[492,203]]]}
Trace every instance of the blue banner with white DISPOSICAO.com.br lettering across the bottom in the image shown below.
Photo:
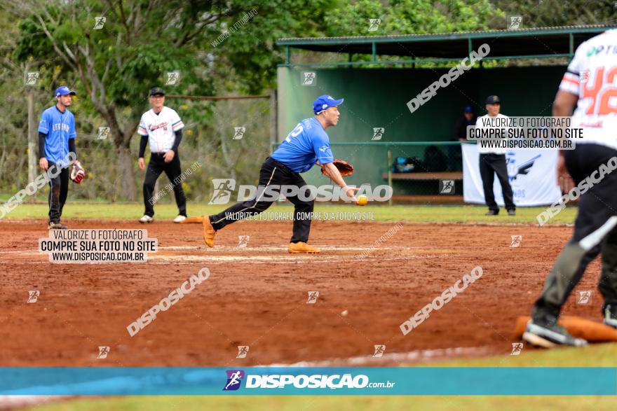
{"label": "blue banner with white DISPOSICAO.com.br lettering across the bottom", "polygon": [[0,395],[617,395],[617,368],[0,368]]}

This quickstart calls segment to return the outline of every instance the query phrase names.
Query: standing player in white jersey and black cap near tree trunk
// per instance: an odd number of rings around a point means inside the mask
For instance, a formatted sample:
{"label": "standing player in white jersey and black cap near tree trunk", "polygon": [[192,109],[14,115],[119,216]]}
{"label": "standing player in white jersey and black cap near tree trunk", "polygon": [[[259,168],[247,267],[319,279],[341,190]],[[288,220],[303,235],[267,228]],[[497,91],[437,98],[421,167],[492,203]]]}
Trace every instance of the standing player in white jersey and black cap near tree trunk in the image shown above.
{"label": "standing player in white jersey and black cap near tree trunk", "polygon": [[162,88],[156,87],[150,90],[149,100],[152,108],[142,115],[140,126],[137,128],[137,132],[142,136],[140,141],[140,169],[146,168],[144,152],[147,144],[151,151],[146,178],[144,179],[144,206],[146,211],[144,216],[140,218],[140,223],[151,223],[154,220],[154,203],[156,202],[153,197],[154,184],[162,172],[167,174],[176,197],[178,216],[174,219],[174,223],[182,223],[187,218],[187,197],[184,195],[182,181],[180,181],[182,169],[180,168],[178,146],[182,141],[184,124],[178,113],[163,105],[165,104],[165,92]]}

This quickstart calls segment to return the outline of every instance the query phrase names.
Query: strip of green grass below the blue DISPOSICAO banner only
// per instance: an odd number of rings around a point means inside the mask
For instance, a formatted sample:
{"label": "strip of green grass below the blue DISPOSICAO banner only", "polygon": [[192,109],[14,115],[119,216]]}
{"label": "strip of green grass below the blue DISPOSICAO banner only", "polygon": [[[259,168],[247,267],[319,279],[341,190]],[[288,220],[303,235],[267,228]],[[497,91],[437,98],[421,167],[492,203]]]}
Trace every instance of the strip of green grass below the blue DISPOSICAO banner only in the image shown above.
{"label": "strip of green grass below the blue DISPOSICAO banner only", "polygon": [[[133,396],[70,400],[43,405],[45,411],[368,411],[368,410],[606,410],[610,396]],[[34,408],[33,408],[34,410]]]}

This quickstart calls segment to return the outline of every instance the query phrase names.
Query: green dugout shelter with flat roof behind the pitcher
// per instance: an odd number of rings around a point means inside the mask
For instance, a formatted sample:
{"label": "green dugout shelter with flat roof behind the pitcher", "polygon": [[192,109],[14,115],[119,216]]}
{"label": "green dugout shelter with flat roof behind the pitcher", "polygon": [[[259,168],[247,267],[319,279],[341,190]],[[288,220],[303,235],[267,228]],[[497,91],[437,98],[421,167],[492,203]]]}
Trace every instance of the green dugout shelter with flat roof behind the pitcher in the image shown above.
{"label": "green dugout shelter with flat roof behind the pitcher", "polygon": [[[448,155],[463,107],[486,113],[488,95],[499,95],[510,116],[550,116],[552,100],[576,48],[608,25],[542,27],[484,32],[279,39],[276,141],[313,115],[318,95],[343,97],[341,120],[327,130],[336,158],[356,165],[348,183],[390,183],[395,198],[418,202],[437,196],[439,179],[462,183],[460,170],[393,172],[397,157],[423,158],[428,146]],[[482,44],[489,54],[412,113],[407,102]],[[313,53],[306,53],[310,51]],[[316,56],[319,56],[316,59]],[[376,130],[383,132],[376,134]],[[274,143],[273,146],[276,147]],[[360,167],[358,167],[360,166]],[[323,184],[317,167],[309,184]],[[460,191],[462,192],[462,190]],[[456,197],[456,196],[455,196]],[[449,197],[447,200],[452,200]],[[460,200],[460,199],[459,199]]]}

